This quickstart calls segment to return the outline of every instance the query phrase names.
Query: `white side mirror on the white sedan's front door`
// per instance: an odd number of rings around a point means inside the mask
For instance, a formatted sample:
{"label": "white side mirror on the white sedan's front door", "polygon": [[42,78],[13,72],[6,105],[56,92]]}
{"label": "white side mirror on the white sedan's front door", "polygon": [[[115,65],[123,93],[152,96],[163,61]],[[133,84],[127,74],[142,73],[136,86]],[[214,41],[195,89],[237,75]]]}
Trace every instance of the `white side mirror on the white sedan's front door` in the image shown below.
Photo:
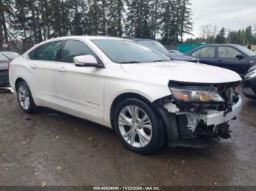
{"label": "white side mirror on the white sedan's front door", "polygon": [[102,68],[97,59],[93,55],[79,55],[74,58],[75,66],[78,67],[97,67]]}

